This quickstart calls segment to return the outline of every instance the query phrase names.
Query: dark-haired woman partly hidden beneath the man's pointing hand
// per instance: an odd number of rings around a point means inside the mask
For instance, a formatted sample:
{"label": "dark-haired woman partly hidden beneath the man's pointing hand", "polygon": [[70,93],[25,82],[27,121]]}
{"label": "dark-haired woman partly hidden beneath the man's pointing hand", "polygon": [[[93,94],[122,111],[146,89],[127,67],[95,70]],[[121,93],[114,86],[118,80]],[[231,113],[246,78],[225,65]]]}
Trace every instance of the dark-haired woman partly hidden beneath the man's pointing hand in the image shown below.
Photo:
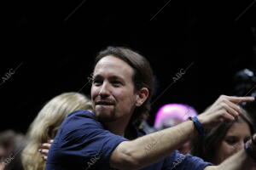
{"label": "dark-haired woman partly hidden beneath the man's pointing hand", "polygon": [[235,122],[219,124],[209,129],[204,139],[194,139],[191,154],[219,165],[244,148],[255,133],[255,124],[246,111]]}

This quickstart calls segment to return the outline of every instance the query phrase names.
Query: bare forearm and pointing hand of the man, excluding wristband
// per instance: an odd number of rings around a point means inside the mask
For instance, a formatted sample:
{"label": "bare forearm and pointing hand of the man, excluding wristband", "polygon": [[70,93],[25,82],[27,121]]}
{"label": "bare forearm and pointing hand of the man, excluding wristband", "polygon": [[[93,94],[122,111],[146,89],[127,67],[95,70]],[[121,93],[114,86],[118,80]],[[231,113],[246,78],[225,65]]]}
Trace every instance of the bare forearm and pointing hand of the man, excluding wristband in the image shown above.
{"label": "bare forearm and pointing hand of the man, excluding wristband", "polygon": [[[222,95],[207,111],[198,116],[198,119],[206,128],[214,127],[222,122],[235,121],[236,117],[242,114],[237,104],[253,100],[251,97]],[[169,127],[132,141],[122,142],[113,150],[110,165],[122,170],[147,167],[165,158],[173,150],[177,150],[189,139],[194,138],[196,134],[194,123],[187,121],[176,127]],[[246,155],[244,156],[246,157]]]}

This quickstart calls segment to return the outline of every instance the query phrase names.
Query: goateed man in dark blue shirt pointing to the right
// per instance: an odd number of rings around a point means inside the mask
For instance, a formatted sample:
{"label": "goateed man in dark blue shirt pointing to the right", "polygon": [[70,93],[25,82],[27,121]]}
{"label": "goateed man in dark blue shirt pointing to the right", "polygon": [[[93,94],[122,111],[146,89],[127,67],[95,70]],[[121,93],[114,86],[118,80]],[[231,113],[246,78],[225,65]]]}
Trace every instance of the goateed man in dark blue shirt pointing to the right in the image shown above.
{"label": "goateed man in dark blue shirt pointing to the right", "polygon": [[[109,47],[96,57],[91,87],[94,113],[75,111],[56,134],[46,169],[211,170],[253,167],[252,140],[221,165],[176,150],[204,128],[232,122],[242,114],[236,105],[250,97],[220,96],[204,113],[176,127],[145,134],[137,125],[148,115],[153,73],[147,59],[129,48]],[[254,139],[256,136],[254,135]],[[253,154],[252,154],[253,153]],[[232,162],[232,163],[230,163]]]}

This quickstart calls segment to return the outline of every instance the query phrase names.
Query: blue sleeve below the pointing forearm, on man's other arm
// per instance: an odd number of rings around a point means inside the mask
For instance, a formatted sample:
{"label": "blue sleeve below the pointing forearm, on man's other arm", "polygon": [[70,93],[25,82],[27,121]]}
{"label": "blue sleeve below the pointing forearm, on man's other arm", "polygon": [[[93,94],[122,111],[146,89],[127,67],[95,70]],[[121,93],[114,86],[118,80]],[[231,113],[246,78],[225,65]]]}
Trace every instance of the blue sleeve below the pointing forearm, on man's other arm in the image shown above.
{"label": "blue sleeve below the pointing forearm, on man's other arm", "polygon": [[167,156],[163,169],[164,170],[203,170],[207,166],[212,166],[212,163],[203,161],[201,158],[191,155],[180,154],[177,150]]}

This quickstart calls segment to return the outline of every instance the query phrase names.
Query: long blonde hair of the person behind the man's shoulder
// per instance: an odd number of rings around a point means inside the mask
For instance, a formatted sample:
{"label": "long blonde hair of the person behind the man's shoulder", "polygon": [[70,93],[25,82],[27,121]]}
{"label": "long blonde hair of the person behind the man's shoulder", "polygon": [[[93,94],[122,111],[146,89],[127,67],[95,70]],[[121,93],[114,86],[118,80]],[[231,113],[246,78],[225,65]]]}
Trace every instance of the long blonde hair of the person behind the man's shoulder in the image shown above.
{"label": "long blonde hair of the person behind the man's shoulder", "polygon": [[40,144],[54,139],[61,122],[73,111],[92,110],[90,99],[79,93],[64,93],[50,99],[26,133],[27,144],[21,160],[25,170],[43,170],[45,161],[38,152]]}

